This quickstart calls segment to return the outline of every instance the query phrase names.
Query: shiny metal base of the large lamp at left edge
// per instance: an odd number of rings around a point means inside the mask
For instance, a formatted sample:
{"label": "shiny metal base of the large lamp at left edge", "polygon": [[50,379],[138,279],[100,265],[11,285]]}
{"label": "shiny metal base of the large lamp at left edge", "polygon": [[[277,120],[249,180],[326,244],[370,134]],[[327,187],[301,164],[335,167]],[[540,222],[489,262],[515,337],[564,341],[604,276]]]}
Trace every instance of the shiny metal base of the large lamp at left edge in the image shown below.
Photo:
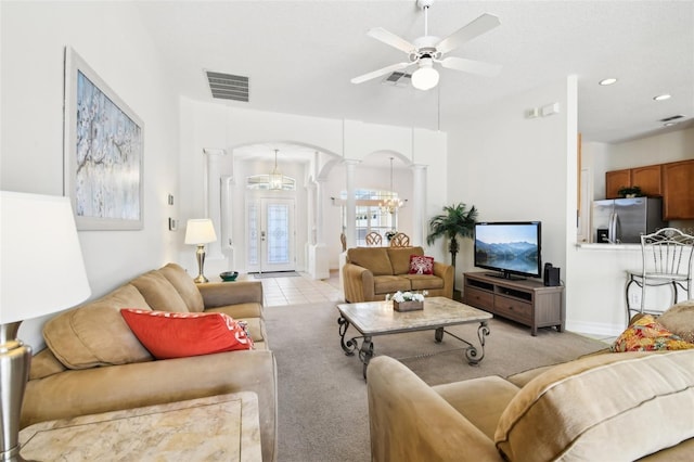
{"label": "shiny metal base of the large lamp at left edge", "polygon": [[20,455],[20,413],[29,378],[31,348],[17,339],[22,322],[0,325],[0,461],[24,461]]}

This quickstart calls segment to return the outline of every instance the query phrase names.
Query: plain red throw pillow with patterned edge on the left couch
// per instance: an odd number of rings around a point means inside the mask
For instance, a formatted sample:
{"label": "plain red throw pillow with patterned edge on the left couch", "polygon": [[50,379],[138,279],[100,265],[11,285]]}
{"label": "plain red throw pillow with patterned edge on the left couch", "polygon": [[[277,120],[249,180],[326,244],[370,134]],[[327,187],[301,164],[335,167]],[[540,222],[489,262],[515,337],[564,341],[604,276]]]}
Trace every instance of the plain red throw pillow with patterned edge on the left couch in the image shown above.
{"label": "plain red throw pillow with patterned edge on the left couch", "polygon": [[123,308],[120,315],[156,359],[252,349],[246,323],[223,312],[169,312]]}

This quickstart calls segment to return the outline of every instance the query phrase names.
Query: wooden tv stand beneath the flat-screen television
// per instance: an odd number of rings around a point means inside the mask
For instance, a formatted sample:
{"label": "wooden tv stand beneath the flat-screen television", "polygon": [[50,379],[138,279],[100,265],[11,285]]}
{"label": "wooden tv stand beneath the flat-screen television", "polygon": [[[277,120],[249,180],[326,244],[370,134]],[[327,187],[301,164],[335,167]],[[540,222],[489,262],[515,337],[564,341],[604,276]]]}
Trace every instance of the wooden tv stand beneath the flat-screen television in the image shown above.
{"label": "wooden tv stand beneath the flat-screen television", "polygon": [[463,303],[530,326],[553,326],[564,331],[563,286],[545,286],[536,280],[507,280],[501,274],[463,273]]}

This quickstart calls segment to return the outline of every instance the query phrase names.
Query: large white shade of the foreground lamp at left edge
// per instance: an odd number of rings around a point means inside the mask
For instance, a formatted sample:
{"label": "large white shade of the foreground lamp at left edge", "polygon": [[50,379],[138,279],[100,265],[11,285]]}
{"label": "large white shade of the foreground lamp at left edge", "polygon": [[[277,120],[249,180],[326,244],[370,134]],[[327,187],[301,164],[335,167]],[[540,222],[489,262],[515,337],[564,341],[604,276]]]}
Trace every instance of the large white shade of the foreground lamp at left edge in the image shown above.
{"label": "large white shade of the foreground lamp at left edge", "polygon": [[91,294],[68,197],[0,191],[0,324],[70,308]]}

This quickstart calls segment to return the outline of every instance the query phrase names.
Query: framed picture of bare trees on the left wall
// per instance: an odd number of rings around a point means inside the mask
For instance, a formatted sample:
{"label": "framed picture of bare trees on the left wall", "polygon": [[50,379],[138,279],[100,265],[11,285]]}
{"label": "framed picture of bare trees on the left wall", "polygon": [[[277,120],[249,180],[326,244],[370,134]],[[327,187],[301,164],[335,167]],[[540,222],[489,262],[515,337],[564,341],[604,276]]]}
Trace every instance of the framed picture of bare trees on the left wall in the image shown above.
{"label": "framed picture of bare trees on the left wall", "polygon": [[64,195],[77,229],[142,229],[144,126],[69,47],[64,111]]}

